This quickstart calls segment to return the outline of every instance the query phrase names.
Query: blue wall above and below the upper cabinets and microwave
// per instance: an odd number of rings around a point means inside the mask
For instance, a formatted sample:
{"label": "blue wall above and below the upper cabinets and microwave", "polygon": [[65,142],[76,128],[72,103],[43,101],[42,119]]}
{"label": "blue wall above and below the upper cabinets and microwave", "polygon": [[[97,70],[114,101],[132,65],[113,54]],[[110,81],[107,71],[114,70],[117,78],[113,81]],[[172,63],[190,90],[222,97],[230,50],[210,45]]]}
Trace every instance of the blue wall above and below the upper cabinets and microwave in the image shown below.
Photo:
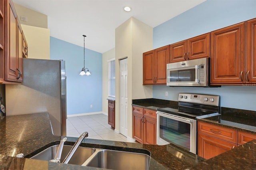
{"label": "blue wall above and below the upper cabinets and microwave", "polygon": [[[256,0],[207,0],[153,29],[154,49],[256,18]],[[165,97],[165,91],[169,96]],[[256,87],[153,86],[153,97],[177,101],[179,92],[221,96],[221,106],[256,111]]]}

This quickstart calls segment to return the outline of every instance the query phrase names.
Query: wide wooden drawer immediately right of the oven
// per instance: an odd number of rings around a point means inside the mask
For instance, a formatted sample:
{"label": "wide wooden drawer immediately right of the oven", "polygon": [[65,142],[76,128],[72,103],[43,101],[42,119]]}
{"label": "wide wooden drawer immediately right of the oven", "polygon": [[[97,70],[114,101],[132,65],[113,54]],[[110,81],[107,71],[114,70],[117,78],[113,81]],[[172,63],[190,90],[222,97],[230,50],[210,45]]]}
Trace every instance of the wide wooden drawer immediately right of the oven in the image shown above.
{"label": "wide wooden drawer immediately right of the oven", "polygon": [[237,130],[234,129],[198,122],[198,132],[237,143]]}

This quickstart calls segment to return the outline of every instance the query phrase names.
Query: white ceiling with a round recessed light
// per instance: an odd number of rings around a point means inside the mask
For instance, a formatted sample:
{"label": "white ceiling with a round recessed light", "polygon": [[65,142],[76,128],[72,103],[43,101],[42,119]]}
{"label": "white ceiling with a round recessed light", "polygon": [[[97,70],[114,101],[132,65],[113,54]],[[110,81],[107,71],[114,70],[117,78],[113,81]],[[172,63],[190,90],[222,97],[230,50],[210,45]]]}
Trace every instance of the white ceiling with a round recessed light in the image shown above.
{"label": "white ceiling with a round recessed light", "polygon": [[[115,47],[115,29],[134,17],[152,28],[206,0],[13,0],[48,16],[50,36],[104,53]],[[131,12],[123,8],[130,6]],[[182,21],[181,21],[182,22]]]}

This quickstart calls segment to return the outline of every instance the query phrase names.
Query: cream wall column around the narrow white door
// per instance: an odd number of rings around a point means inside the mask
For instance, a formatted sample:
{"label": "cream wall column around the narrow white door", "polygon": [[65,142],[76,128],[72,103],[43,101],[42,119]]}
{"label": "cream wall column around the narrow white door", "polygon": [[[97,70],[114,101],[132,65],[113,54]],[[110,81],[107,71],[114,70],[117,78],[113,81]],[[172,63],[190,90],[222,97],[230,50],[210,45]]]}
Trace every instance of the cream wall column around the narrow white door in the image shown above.
{"label": "cream wall column around the narrow white door", "polygon": [[116,28],[116,130],[120,130],[120,59],[128,58],[128,138],[132,138],[132,99],[152,98],[152,86],[142,86],[143,52],[153,47],[153,28],[130,18]]}

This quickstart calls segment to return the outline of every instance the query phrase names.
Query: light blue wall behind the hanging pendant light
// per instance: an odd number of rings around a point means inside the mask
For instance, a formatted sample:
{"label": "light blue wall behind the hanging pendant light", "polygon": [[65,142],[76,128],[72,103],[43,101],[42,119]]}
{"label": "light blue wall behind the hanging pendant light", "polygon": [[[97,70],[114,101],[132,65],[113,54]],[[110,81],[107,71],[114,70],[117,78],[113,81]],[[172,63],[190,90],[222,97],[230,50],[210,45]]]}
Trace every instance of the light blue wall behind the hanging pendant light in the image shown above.
{"label": "light blue wall behind the hanging pendant light", "polygon": [[85,67],[89,68],[92,75],[81,76],[84,47],[50,37],[50,59],[65,61],[67,114],[102,111],[102,53],[85,49]]}

